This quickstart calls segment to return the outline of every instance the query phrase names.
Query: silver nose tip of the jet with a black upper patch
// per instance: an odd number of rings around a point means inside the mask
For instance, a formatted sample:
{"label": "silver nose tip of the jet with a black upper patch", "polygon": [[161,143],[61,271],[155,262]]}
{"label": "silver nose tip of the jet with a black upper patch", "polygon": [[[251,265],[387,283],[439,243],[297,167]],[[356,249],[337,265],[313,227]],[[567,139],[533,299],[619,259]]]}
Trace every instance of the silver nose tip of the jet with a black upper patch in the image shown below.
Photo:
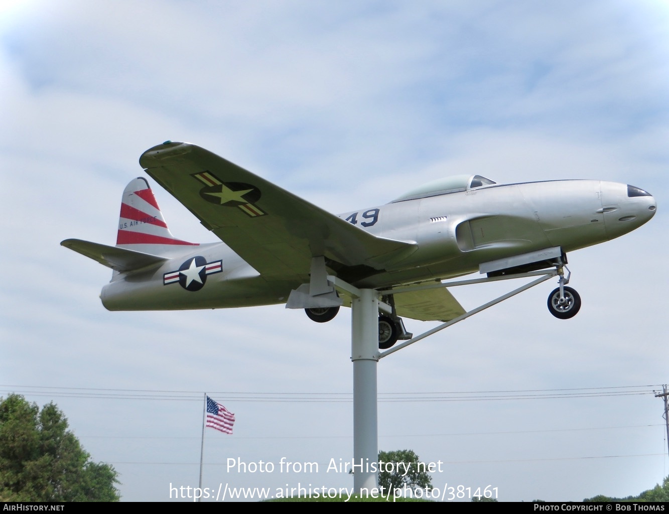
{"label": "silver nose tip of the jet with a black upper patch", "polygon": [[653,195],[640,187],[602,182],[601,207],[606,234],[613,239],[648,222],[655,216],[657,203]]}

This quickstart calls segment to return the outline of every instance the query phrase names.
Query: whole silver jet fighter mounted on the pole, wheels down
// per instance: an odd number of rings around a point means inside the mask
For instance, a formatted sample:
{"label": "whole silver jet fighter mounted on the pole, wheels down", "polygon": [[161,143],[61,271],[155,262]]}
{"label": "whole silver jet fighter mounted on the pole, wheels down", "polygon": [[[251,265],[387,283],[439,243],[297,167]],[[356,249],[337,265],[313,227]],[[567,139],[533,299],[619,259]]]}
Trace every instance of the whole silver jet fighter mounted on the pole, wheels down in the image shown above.
{"label": "whole silver jet fighter mounted on the pole, wheels down", "polygon": [[189,143],[157,145],[140,165],[222,243],[175,238],[147,180],[132,180],[116,246],[61,243],[114,270],[100,295],[106,309],[286,303],[324,322],[350,305],[336,287],[344,280],[378,290],[389,305],[379,317],[381,348],[411,337],[401,317],[450,321],[465,313],[445,287],[397,294],[403,286],[477,271],[494,280],[555,268],[559,287],[549,294],[549,311],[571,318],[581,299],[566,286],[567,252],[631,232],[656,211],[650,193],[622,183],[502,185],[460,175],[335,216]]}

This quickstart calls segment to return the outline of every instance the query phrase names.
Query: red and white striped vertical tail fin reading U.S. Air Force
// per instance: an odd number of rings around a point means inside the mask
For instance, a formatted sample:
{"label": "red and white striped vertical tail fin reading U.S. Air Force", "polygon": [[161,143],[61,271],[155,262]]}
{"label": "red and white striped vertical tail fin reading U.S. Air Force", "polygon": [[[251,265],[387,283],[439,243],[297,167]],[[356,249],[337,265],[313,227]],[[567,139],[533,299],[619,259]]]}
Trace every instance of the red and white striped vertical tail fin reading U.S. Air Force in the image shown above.
{"label": "red and white striped vertical tail fin reading U.S. Air Force", "polygon": [[[140,250],[136,245],[197,246],[197,243],[182,241],[172,235],[149,183],[142,177],[130,181],[123,191],[116,236],[116,246]],[[155,246],[149,248],[157,249]]]}

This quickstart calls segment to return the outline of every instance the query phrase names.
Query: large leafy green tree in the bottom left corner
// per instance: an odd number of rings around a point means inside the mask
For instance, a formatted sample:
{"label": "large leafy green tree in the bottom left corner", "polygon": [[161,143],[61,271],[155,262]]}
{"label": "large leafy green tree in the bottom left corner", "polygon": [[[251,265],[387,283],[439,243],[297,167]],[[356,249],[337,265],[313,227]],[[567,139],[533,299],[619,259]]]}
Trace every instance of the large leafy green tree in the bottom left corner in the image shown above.
{"label": "large leafy green tree in the bottom left corner", "polygon": [[0,501],[118,501],[118,473],[90,454],[53,403],[0,398]]}

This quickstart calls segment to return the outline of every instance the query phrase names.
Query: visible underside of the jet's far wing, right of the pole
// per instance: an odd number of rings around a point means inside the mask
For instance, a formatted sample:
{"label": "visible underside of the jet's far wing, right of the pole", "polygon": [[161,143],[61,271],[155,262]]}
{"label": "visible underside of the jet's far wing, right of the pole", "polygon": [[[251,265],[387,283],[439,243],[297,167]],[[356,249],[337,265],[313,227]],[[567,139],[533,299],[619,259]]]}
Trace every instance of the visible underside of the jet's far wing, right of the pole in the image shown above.
{"label": "visible underside of the jet's far wing, right of the pole", "polygon": [[404,318],[421,321],[451,321],[466,311],[445,287],[400,292],[395,289],[395,311]]}

